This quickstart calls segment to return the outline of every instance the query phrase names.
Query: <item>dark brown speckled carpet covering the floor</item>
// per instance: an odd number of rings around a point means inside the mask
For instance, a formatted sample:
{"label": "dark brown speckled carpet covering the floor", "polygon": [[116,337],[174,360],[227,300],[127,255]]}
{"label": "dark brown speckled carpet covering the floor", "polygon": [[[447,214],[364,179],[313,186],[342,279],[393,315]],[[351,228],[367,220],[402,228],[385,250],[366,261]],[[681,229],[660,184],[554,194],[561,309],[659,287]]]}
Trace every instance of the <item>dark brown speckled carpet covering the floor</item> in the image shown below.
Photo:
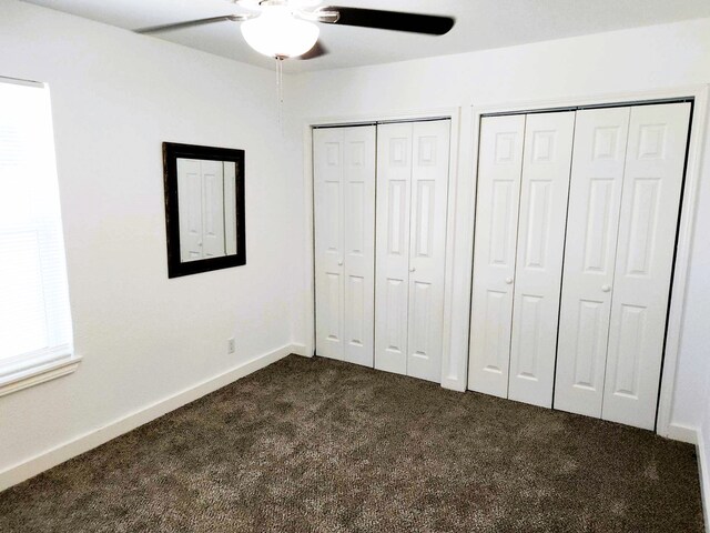
{"label": "dark brown speckled carpet covering the floor", "polygon": [[291,355],[0,493],[9,532],[701,532],[692,446]]}

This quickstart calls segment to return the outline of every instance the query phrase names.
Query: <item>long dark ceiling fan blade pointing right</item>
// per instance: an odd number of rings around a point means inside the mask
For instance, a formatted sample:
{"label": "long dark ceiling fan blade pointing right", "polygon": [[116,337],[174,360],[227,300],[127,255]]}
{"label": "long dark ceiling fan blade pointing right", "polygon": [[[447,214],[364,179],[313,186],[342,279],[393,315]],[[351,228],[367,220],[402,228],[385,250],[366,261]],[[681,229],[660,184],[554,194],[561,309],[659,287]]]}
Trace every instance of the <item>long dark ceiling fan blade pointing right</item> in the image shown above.
{"label": "long dark ceiling fan blade pointing right", "polygon": [[335,21],[321,20],[326,24],[358,26],[362,28],[377,28],[382,30],[408,31],[412,33],[427,33],[443,36],[454,28],[452,17],[436,14],[405,13],[399,11],[383,11],[379,9],[347,8],[343,6],[327,6],[320,11],[336,11]]}

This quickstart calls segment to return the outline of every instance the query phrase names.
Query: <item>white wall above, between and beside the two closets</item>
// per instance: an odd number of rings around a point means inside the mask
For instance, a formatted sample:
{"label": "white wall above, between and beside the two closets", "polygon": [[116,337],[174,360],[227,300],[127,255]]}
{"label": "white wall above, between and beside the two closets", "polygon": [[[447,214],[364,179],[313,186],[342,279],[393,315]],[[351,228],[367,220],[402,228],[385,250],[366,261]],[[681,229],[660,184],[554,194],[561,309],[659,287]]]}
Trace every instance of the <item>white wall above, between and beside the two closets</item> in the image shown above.
{"label": "white wall above, between and beside the two closets", "polygon": [[[334,50],[333,53],[337,53]],[[473,114],[470,105],[519,103],[552,98],[606,95],[630,91],[674,89],[710,82],[710,19],[625,30],[514,48],[473,52],[394,64],[343,69],[295,76],[292,94],[297,110],[291,122],[294,137],[303,135],[303,123],[311,118],[393,115],[416,110],[462,107],[457,202],[473,198]],[[703,141],[708,147],[708,141]],[[295,147],[295,150],[301,150]],[[706,148],[710,153],[710,149]],[[710,227],[710,158],[706,158],[697,217],[698,228]],[[296,248],[307,242],[307,228],[300,221],[306,213],[294,210]],[[456,262],[467,268],[454,272],[458,286],[469,286],[469,220],[459,217],[457,238],[466,245],[456,250]],[[688,282],[686,323],[682,331],[680,364],[671,423],[698,428],[703,396],[702,376],[707,372],[710,329],[710,240],[701,230],[694,238]],[[305,263],[304,263],[305,264]],[[301,274],[302,291],[295,304],[307,309],[307,273]],[[458,294],[465,294],[465,291]],[[452,353],[458,372],[465,371],[468,301],[458,296],[453,315]],[[306,316],[306,313],[302,313]],[[310,340],[306,320],[296,326],[301,342]]]}

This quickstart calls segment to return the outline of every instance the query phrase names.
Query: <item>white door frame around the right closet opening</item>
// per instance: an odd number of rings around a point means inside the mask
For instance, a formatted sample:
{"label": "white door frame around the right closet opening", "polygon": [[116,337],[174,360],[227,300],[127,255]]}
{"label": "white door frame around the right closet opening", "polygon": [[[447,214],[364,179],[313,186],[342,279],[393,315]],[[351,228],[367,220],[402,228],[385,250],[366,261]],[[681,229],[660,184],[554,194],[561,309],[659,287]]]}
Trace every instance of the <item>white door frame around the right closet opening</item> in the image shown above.
{"label": "white door frame around the right closet opening", "polygon": [[[473,107],[471,142],[474,165],[474,192],[477,185],[477,161],[480,121],[486,115],[516,114],[549,112],[580,107],[626,107],[639,104],[672,103],[681,100],[692,101],[690,119],[690,138],[686,161],[686,175],[680,205],[680,220],[677,233],[677,251],[673,260],[673,276],[671,280],[671,295],[669,299],[669,312],[666,326],[666,341],[663,349],[663,363],[661,368],[660,394],[658,401],[658,414],[656,433],[661,436],[679,441],[697,443],[696,431],[682,425],[671,423],[671,412],[674,395],[674,382],[678,371],[678,355],[680,351],[680,333],[683,321],[683,308],[686,302],[686,286],[690,265],[692,235],[698,203],[698,190],[701,174],[702,140],[706,132],[706,117],[708,114],[709,86],[679,87],[662,91],[639,91],[601,95],[586,95],[579,98],[560,98],[527,102],[500,102],[490,105]],[[710,155],[710,154],[709,154]],[[471,258],[468,265],[473,265],[474,228],[475,228],[475,194],[466,202],[457,205],[459,217],[467,217],[469,225],[465,235],[469,243]],[[463,288],[460,288],[463,290]],[[468,282],[470,298],[470,280]],[[470,319],[470,318],[469,318]],[[468,360],[468,355],[466,356]]]}

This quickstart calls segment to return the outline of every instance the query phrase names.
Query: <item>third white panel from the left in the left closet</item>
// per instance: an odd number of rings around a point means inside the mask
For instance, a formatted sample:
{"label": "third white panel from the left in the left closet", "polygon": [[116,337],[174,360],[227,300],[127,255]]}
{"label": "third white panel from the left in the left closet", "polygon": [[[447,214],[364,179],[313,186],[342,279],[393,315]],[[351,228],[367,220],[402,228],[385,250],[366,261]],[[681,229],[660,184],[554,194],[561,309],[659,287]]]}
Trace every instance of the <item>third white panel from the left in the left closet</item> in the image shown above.
{"label": "third white panel from the left in the left closet", "polygon": [[412,123],[377,127],[375,368],[407,373]]}

